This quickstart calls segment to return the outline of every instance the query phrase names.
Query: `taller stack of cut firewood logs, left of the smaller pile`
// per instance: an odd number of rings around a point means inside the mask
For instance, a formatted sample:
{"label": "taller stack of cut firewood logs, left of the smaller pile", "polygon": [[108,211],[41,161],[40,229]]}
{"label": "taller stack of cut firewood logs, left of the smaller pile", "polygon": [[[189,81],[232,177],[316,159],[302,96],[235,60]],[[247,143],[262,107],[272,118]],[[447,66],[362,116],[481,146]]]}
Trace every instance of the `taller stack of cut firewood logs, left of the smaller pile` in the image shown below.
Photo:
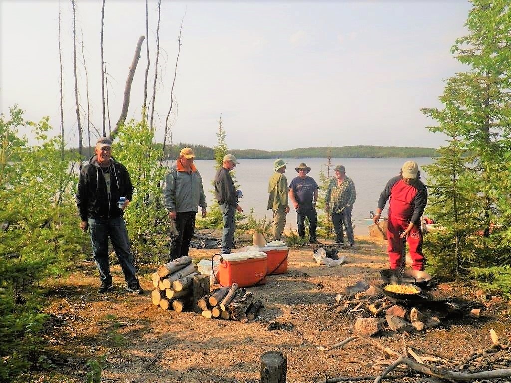
{"label": "taller stack of cut firewood logs, left of the smaller pile", "polygon": [[190,256],[177,258],[158,267],[152,274],[152,282],[155,287],[151,293],[153,304],[177,312],[193,308],[199,313],[196,303],[210,291],[210,277],[197,273]]}

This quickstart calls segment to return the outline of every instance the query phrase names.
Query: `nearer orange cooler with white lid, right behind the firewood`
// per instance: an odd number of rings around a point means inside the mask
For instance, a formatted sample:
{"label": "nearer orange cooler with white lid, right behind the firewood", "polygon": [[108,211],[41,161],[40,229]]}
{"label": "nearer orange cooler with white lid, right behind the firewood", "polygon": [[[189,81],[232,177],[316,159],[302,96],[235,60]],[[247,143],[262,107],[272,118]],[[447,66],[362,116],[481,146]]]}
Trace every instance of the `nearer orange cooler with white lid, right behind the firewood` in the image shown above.
{"label": "nearer orange cooler with white lid, right behind the firewood", "polygon": [[266,283],[268,255],[261,251],[223,254],[218,265],[218,281],[222,286],[234,282],[240,287]]}

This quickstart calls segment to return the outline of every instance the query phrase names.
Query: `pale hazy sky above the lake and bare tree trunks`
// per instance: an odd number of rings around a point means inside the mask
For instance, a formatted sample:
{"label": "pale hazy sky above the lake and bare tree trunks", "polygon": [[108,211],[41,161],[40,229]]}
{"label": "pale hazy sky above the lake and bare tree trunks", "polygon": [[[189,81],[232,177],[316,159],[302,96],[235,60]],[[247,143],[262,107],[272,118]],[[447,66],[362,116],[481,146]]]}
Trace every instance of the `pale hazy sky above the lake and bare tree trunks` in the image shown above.
{"label": "pale hazy sky above the lake and bare tree trunks", "polygon": [[[88,86],[90,122],[101,133],[102,2],[76,4],[81,121],[86,126]],[[59,7],[64,136],[77,147],[71,0],[0,0],[0,111],[8,115],[18,104],[27,119],[50,116],[52,133],[60,133]],[[157,2],[148,8],[151,96]],[[450,49],[467,34],[470,8],[464,0],[163,1],[155,139],[162,140],[170,107],[182,22],[174,143],[213,147],[221,118],[230,149],[444,145],[420,108],[441,107],[445,80],[467,70]],[[146,34],[145,1],[106,0],[104,26],[114,126],[136,43]],[[146,65],[144,42],[128,119],[141,117]]]}

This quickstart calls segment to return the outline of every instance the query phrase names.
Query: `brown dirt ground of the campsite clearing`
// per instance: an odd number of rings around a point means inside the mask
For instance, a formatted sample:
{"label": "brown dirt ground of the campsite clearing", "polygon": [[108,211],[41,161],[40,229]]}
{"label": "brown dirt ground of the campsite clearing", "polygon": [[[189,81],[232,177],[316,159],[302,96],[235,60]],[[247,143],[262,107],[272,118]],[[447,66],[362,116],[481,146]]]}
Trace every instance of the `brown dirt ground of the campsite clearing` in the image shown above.
{"label": "brown dirt ground of the campsite clearing", "polygon": [[[287,356],[288,382],[318,382],[335,376],[374,376],[383,355],[374,346],[352,341],[330,351],[320,349],[351,335],[358,313],[333,314],[335,297],[345,286],[379,276],[387,268],[384,245],[356,238],[357,250],[343,250],[347,263],[327,268],[312,258],[310,247],[291,249],[289,272],[269,276],[263,286],[249,288],[264,303],[251,322],[206,319],[201,315],[162,310],[151,303],[153,266],[141,267],[142,296],[124,290],[114,266],[115,291],[100,295],[95,264],[84,262],[69,278],[53,281],[48,330],[52,381],[84,382],[86,362],[106,355],[103,382],[258,382],[260,356],[282,351]],[[211,258],[215,250],[191,249],[194,259]],[[483,304],[482,317],[443,322],[436,328],[406,336],[383,332],[375,339],[396,351],[404,345],[420,355],[454,358],[491,345],[489,329],[503,341],[511,337],[509,303],[486,297],[473,286],[444,284],[453,296]],[[271,321],[282,326],[268,330]],[[387,363],[392,362],[387,360]]]}

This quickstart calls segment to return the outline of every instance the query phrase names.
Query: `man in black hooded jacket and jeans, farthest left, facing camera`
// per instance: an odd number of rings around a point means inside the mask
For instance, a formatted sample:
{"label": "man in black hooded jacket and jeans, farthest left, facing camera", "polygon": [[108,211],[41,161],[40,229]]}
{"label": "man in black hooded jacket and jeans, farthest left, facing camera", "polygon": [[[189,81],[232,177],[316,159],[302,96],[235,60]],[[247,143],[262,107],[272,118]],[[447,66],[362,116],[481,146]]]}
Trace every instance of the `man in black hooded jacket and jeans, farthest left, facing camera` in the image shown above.
{"label": "man in black hooded jacket and jeans, farthest left, facing camera", "polygon": [[[130,251],[128,231],[123,218],[133,197],[133,185],[126,167],[113,159],[112,140],[101,137],[96,143],[96,155],[82,167],[78,193],[76,195],[80,212],[80,228],[90,229],[92,253],[98,265],[101,278],[99,293],[113,290],[112,275],[108,262],[108,237],[128,284],[127,290],[142,294],[140,283],[135,276],[133,255]],[[121,202],[125,198],[125,202]]]}

